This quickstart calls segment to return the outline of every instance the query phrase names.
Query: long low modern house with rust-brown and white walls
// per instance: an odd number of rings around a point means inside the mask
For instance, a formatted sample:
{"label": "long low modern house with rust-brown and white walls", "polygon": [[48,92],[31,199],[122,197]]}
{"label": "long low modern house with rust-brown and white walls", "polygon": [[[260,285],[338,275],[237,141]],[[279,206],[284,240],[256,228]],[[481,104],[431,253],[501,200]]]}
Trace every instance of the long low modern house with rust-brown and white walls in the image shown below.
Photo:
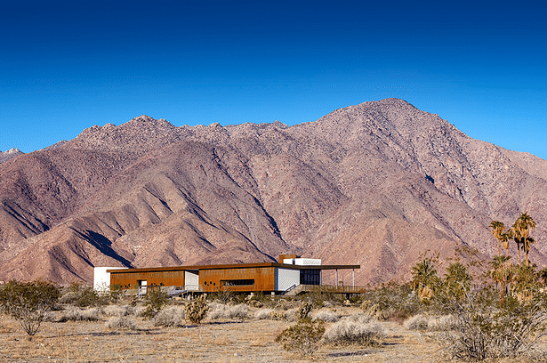
{"label": "long low modern house with rust-brown and white walls", "polygon": [[[333,293],[358,294],[364,287],[337,286],[338,270],[359,269],[359,265],[322,265],[319,259],[281,254],[279,262],[174,266],[143,269],[95,268],[94,286],[119,285],[146,294],[148,286],[174,286],[177,291],[213,293],[298,294],[321,289]],[[334,286],[322,285],[322,271],[335,270]]]}

